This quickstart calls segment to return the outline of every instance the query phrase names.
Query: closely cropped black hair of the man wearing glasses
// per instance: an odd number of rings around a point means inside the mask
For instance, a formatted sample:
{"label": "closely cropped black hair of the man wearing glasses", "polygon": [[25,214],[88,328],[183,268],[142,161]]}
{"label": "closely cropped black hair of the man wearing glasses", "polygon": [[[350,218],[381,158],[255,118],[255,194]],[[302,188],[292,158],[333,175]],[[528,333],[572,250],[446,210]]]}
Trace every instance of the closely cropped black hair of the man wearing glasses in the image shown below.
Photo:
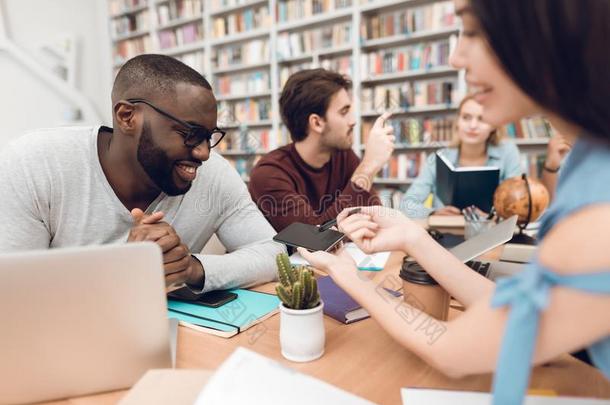
{"label": "closely cropped black hair of the man wearing glasses", "polygon": [[119,70],[112,87],[112,102],[153,95],[173,96],[178,83],[212,90],[201,73],[177,59],[166,55],[139,55],[125,62]]}

